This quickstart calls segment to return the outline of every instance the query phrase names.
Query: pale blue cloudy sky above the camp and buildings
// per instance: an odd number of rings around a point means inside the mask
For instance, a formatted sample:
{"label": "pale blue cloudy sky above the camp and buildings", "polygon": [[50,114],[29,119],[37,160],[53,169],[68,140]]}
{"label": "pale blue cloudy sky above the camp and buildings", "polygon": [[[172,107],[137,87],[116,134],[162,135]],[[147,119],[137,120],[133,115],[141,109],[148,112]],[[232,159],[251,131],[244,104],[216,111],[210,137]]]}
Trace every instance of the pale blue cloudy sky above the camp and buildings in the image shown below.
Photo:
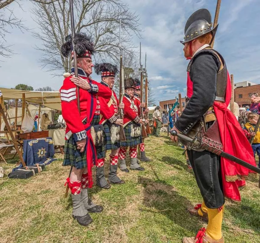
{"label": "pale blue cloudy sky above the camp and buildings", "polygon": [[[142,42],[143,63],[147,53],[147,72],[155,100],[169,100],[178,93],[186,95],[186,67],[188,61],[183,57],[184,26],[189,16],[199,8],[208,8],[212,13],[212,22],[217,0],[124,0],[129,8],[140,16],[143,30],[142,39],[134,38],[134,44]],[[24,24],[35,29],[30,8],[32,3],[22,1],[23,10],[13,3],[16,16]],[[230,74],[236,82],[252,81],[260,83],[260,1],[227,0],[221,2],[219,28],[214,48],[227,62]],[[51,86],[58,90],[63,77],[54,77],[52,73],[41,68],[39,58],[42,53],[35,50],[39,40],[32,37],[29,31],[22,33],[11,29],[6,39],[16,55],[0,63],[0,87],[13,88],[16,84],[25,83],[34,89]],[[100,77],[92,75],[99,81]]]}

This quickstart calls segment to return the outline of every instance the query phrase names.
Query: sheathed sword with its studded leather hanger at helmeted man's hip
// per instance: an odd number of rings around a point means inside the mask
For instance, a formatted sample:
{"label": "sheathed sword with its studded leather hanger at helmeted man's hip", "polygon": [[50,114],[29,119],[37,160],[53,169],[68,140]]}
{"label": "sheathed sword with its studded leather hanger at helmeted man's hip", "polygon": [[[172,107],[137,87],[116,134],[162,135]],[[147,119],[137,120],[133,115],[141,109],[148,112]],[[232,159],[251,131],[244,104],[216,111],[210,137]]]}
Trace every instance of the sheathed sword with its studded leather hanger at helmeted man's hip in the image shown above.
{"label": "sheathed sword with its studded leather hanger at helmeted man's hip", "polygon": [[192,149],[192,147],[196,146],[198,148],[202,148],[204,150],[207,150],[213,154],[217,154],[219,156],[222,156],[228,160],[231,160],[239,165],[242,165],[252,171],[255,171],[256,173],[260,174],[260,169],[253,166],[253,165],[250,165],[249,163],[243,161],[243,160],[240,160],[239,158],[231,155],[231,154],[228,154],[228,153],[225,153],[223,152],[223,146],[221,148],[221,145],[220,145],[220,148],[212,148],[209,144],[207,144],[207,141],[204,139],[204,138],[199,138],[199,137],[194,137],[193,139],[188,137],[188,136],[185,136],[181,133],[177,133],[175,130],[172,130],[171,131],[171,134],[172,136],[177,136],[178,138],[186,141],[187,143],[189,143],[189,150]]}

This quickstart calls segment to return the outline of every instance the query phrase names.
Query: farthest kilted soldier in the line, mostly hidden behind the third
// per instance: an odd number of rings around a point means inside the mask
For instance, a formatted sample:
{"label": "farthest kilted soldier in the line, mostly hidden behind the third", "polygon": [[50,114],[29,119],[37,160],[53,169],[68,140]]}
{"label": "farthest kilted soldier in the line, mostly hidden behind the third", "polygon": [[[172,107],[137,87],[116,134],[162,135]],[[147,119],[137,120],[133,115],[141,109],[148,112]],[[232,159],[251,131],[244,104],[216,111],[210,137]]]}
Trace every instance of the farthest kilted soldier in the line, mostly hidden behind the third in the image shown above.
{"label": "farthest kilted soldier in the line, mostly hidden behind the third", "polygon": [[[140,95],[141,95],[141,82],[135,78],[134,79],[134,100],[135,104],[137,104],[139,115],[141,116],[140,112],[142,107],[142,112],[145,107],[145,102],[141,103],[140,101]],[[149,109],[145,110],[145,112],[149,112]],[[147,121],[148,122],[148,121]],[[140,161],[148,162],[150,159],[146,157],[145,150],[144,150],[144,139],[142,139],[142,142],[138,145],[140,149]]]}

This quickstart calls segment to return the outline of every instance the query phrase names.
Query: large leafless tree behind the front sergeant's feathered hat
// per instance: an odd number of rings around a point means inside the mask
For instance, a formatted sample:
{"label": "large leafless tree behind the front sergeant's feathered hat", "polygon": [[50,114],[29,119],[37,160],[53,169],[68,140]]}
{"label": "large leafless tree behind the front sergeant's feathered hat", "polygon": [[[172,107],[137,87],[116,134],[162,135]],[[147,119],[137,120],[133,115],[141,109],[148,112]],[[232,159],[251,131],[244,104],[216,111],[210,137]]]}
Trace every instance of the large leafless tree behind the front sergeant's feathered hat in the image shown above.
{"label": "large leafless tree behind the front sergeant's feathered hat", "polygon": [[[37,4],[33,9],[40,32],[34,37],[42,41],[37,46],[42,51],[40,62],[49,71],[70,70],[70,61],[60,52],[65,36],[71,32],[68,1]],[[91,36],[96,54],[94,61],[109,60],[118,64],[119,21],[121,19],[121,42],[126,53],[133,47],[131,37],[140,36],[139,18],[121,0],[74,0],[75,31]]]}

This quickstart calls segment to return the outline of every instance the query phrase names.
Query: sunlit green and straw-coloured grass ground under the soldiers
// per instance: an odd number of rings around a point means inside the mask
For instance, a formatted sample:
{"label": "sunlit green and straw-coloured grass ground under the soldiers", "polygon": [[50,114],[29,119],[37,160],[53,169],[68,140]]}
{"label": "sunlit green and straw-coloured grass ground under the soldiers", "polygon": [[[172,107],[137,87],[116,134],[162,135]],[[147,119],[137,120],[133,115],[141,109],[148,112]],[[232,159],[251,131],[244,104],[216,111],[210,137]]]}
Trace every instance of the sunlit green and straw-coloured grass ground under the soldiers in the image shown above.
{"label": "sunlit green and straw-coloured grass ground under the soldiers", "polygon": [[[149,137],[146,154],[152,162],[145,171],[118,175],[126,181],[110,190],[93,187],[94,202],[104,206],[91,214],[93,223],[82,227],[71,217],[71,198],[64,198],[69,168],[62,159],[27,180],[8,179],[17,160],[9,160],[0,178],[0,242],[181,242],[206,226],[187,207],[201,201],[183,150],[169,138]],[[108,173],[108,162],[106,175]],[[95,170],[93,177],[95,179]],[[226,243],[260,242],[260,189],[258,175],[248,178],[241,190],[242,202],[227,202],[223,234]]]}

